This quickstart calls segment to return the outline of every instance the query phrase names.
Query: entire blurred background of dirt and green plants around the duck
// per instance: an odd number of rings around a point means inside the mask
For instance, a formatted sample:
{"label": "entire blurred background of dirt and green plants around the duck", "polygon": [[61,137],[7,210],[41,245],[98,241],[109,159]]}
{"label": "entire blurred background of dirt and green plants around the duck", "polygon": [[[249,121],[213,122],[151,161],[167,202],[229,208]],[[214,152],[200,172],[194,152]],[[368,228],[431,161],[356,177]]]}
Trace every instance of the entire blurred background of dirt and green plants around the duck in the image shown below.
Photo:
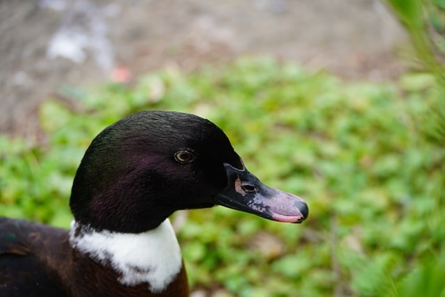
{"label": "entire blurred background of dirt and green plants around the duck", "polygon": [[0,2],[0,215],[68,227],[104,127],[216,122],[309,219],[173,216],[193,297],[445,296],[442,0]]}

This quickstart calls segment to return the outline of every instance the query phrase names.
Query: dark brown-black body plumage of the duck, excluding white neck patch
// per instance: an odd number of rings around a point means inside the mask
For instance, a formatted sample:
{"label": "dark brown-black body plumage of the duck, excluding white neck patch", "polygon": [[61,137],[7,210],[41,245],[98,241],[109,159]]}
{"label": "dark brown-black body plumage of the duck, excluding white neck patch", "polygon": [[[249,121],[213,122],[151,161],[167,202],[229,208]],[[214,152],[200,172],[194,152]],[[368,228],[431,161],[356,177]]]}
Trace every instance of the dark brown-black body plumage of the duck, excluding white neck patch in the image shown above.
{"label": "dark brown-black body plumage of the duck, excluding white neck patch", "polygon": [[122,273],[113,267],[110,257],[86,257],[84,250],[73,248],[70,237],[74,234],[70,233],[74,230],[0,218],[0,296],[188,296],[180,257],[174,280],[162,292],[152,292],[146,282],[122,284]]}

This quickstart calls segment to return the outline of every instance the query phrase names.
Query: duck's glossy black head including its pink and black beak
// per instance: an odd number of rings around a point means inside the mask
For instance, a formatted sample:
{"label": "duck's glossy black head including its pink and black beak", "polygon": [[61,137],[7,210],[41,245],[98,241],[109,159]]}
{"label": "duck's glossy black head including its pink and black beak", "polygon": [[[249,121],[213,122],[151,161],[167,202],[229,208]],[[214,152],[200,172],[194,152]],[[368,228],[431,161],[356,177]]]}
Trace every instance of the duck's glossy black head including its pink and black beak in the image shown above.
{"label": "duck's glossy black head including its pink and black beak", "polygon": [[308,215],[301,198],[252,175],[216,125],[172,111],[142,111],[104,129],[83,156],[70,198],[76,222],[127,233],[216,204],[282,222]]}

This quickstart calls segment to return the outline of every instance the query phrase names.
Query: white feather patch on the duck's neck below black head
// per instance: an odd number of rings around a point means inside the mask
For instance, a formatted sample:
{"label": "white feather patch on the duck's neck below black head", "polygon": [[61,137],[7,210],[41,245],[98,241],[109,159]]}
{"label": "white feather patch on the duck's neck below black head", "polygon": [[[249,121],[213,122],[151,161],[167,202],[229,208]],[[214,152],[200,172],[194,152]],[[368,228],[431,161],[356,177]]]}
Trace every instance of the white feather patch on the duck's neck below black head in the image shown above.
{"label": "white feather patch on the duck's neck below black head", "polygon": [[138,234],[93,231],[76,235],[79,227],[73,220],[71,246],[97,262],[109,261],[121,274],[121,284],[135,286],[148,282],[150,291],[159,293],[181,271],[181,249],[168,218],[156,229]]}

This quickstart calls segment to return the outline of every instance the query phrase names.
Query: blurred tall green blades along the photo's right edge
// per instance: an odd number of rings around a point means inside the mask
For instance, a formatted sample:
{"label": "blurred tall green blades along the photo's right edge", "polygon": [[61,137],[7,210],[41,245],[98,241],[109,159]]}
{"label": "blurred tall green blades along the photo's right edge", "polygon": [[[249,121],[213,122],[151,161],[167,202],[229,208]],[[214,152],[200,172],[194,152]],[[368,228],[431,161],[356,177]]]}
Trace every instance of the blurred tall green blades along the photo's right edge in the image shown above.
{"label": "blurred tall green blades along the photo's right edge", "polygon": [[[405,27],[412,47],[414,58],[420,67],[417,70],[426,72],[421,81],[435,78],[436,99],[428,102],[429,112],[418,116],[422,121],[421,134],[430,143],[444,150],[445,143],[445,1],[444,0],[387,0],[395,15]],[[413,56],[412,56],[413,58]],[[407,85],[412,86],[411,83]],[[415,86],[415,83],[414,83]],[[444,175],[443,166],[440,166]],[[437,183],[437,184],[436,184]],[[444,187],[444,177],[435,182]],[[430,220],[442,223],[444,220],[444,194],[436,193],[437,210]],[[440,225],[435,225],[439,227]],[[431,236],[436,236],[431,234]],[[399,280],[391,289],[385,291],[389,296],[445,296],[445,248],[444,244],[432,255],[413,267],[405,278]]]}

